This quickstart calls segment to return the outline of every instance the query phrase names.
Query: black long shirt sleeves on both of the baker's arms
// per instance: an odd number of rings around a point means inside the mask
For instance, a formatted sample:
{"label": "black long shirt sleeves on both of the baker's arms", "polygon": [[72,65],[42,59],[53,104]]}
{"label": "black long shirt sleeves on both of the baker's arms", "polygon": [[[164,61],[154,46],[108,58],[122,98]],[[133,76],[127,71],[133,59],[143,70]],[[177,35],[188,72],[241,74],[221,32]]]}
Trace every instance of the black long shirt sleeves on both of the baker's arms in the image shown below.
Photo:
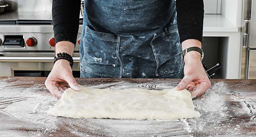
{"label": "black long shirt sleeves on both of the baker's arms", "polygon": [[[80,0],[53,0],[52,18],[55,42],[76,43],[79,27]],[[176,0],[180,42],[188,39],[202,41],[203,0]]]}

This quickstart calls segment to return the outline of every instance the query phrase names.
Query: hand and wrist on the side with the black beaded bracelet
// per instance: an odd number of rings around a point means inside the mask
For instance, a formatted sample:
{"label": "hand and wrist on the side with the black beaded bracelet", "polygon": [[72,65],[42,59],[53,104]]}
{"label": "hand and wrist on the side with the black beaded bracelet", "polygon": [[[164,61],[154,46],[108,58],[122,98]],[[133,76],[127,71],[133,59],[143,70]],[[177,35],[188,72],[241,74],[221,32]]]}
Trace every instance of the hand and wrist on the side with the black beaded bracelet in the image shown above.
{"label": "hand and wrist on the side with the black beaded bracelet", "polygon": [[[58,42],[55,47],[56,53],[67,52],[72,55],[74,51],[74,44],[69,41]],[[69,65],[69,61],[65,59],[59,59],[54,63],[52,71],[45,81],[45,86],[53,96],[58,98],[60,98],[63,92],[69,87],[76,91],[81,90],[81,86],[78,85],[72,75],[72,68]]]}

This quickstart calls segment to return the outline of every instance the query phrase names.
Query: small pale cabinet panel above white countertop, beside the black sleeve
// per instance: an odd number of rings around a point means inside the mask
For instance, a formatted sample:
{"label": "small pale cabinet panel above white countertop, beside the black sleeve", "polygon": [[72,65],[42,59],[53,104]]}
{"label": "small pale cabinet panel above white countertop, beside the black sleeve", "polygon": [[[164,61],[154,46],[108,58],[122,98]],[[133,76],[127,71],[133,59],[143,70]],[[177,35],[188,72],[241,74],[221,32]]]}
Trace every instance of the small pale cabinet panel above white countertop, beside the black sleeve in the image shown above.
{"label": "small pale cabinet panel above white countertop, beside the black sleeve", "polygon": [[204,0],[204,14],[221,14],[221,0]]}

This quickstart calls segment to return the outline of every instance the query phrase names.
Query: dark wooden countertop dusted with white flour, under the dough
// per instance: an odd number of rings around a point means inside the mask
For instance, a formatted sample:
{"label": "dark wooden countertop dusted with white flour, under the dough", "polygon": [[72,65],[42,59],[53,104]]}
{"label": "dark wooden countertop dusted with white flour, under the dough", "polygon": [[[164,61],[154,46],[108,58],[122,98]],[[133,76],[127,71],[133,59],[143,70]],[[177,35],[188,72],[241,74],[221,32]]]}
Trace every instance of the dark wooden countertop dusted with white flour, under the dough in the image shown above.
{"label": "dark wooden countertop dusted with white flour, under the dough", "polygon": [[[180,120],[73,119],[48,115],[58,99],[46,78],[0,77],[0,136],[256,136],[256,80],[212,79],[212,87],[193,99],[202,116]],[[77,78],[94,88],[174,88],[180,79]]]}

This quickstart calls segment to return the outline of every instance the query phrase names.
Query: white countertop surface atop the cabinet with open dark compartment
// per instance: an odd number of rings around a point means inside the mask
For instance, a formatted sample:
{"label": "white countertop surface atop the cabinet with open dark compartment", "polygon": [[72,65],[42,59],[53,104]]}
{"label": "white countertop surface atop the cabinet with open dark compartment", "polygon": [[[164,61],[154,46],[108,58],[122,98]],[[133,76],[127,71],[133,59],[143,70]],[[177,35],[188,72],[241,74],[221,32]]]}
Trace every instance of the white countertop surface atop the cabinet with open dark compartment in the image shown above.
{"label": "white countertop surface atop the cabinet with open dark compartment", "polygon": [[204,32],[238,32],[238,28],[221,14],[204,14]]}

